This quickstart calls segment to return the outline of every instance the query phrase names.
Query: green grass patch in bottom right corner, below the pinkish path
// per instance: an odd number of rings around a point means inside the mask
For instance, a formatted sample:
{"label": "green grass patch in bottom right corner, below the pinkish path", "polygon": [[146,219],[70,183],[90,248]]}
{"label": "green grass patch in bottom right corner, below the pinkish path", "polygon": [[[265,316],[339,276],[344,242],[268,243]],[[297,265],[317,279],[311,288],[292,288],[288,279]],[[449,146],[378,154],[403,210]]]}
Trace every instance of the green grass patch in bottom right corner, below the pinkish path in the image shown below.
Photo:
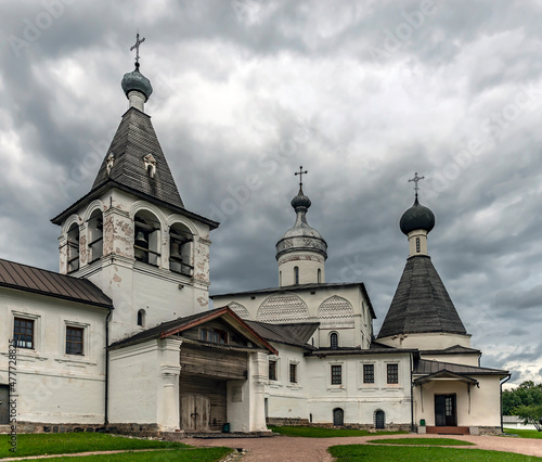
{"label": "green grass patch in bottom right corner, below the pinkish path", "polygon": [[412,448],[405,446],[332,446],[330,448],[330,453],[334,458],[337,458],[336,462],[353,462],[364,460],[376,460],[378,462],[455,462],[459,460],[468,460],[474,462],[540,461],[540,458],[513,454],[511,452],[485,451],[481,449]]}

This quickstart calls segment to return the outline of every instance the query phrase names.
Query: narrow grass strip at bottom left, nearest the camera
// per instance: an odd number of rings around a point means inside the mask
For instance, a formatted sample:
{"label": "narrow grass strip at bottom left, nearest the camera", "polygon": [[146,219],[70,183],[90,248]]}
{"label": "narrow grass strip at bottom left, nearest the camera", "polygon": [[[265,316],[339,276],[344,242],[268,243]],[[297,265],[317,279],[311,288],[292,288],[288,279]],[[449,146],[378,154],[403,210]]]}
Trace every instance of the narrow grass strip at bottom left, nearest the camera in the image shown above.
{"label": "narrow grass strip at bottom left, nearest the camera", "polygon": [[77,458],[52,458],[49,461],[65,461],[65,462],[104,462],[104,461],[158,461],[158,462],[217,462],[232,452],[230,448],[184,448],[167,451],[149,451],[149,452],[124,452],[120,454],[104,454],[104,455],[85,455]]}

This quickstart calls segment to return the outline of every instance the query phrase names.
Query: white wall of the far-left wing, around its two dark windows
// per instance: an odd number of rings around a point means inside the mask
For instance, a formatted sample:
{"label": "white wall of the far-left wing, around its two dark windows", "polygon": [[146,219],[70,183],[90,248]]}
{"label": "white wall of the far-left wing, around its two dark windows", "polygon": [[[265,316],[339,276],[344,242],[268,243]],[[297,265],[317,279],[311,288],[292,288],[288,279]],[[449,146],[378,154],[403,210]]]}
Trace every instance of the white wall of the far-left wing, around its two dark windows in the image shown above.
{"label": "white wall of the far-left wing, around its two dark windows", "polygon": [[[35,321],[35,348],[17,348],[20,422],[104,422],[106,313],[104,308],[0,288],[0,384],[9,383],[14,318]],[[66,355],[66,325],[83,329],[83,355]]]}

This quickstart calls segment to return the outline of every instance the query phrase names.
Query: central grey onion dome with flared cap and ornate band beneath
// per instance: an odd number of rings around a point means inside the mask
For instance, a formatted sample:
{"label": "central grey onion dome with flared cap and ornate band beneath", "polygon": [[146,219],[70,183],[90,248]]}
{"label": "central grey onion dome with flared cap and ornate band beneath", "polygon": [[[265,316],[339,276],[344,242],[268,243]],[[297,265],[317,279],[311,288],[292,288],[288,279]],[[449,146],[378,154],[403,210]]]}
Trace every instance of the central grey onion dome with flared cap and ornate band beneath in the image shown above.
{"label": "central grey onion dome with flared cap and ornate band beneath", "polygon": [[307,222],[307,209],[311,202],[299,188],[299,192],[291,202],[296,210],[295,224],[286,231],[284,236],[276,243],[276,259],[289,252],[317,252],[327,258],[327,243],[322,235]]}

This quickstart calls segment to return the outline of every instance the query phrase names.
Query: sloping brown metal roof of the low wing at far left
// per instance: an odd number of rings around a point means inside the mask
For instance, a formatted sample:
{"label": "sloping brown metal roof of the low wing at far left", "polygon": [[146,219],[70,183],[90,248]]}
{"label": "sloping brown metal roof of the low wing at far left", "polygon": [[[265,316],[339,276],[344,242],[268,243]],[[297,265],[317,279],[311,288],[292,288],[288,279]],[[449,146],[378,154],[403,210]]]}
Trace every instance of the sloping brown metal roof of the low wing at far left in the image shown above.
{"label": "sloping brown metal roof of the low wing at far left", "polygon": [[0,286],[87,305],[112,308],[113,301],[92,282],[0,258]]}

